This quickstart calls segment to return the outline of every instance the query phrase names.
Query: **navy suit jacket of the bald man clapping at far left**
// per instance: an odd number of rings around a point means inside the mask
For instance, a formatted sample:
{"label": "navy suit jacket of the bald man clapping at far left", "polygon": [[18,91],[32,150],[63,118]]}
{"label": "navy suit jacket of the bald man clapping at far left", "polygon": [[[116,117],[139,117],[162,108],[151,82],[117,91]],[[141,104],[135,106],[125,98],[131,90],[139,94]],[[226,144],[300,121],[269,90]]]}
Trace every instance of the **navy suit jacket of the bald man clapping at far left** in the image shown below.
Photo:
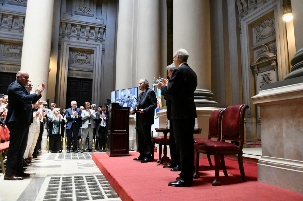
{"label": "navy suit jacket of the bald man clapping at far left", "polygon": [[20,123],[33,123],[33,108],[40,98],[36,93],[29,94],[27,88],[23,87],[17,80],[12,82],[7,89],[9,107],[5,123],[11,121]]}

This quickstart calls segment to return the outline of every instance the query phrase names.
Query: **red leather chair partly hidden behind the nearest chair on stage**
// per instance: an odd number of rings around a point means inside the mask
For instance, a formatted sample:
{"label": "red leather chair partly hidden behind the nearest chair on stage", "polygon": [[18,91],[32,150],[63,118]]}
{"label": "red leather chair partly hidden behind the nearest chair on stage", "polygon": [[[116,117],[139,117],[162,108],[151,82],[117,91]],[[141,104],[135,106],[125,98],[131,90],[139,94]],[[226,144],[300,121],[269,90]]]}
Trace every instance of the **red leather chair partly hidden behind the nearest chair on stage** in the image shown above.
{"label": "red leather chair partly hidden behind the nearest chair on stage", "polygon": [[[213,141],[211,138],[216,138],[216,141],[220,141],[221,139],[221,123],[222,123],[222,116],[223,116],[224,110],[214,110],[211,112],[208,122],[208,138],[194,138],[194,143],[198,142],[208,142]],[[199,153],[198,153],[199,158]],[[212,166],[210,155],[207,154],[209,165]],[[199,159],[198,159],[199,160]],[[196,164],[196,162],[195,162]],[[196,173],[194,173],[194,178],[196,177]]]}

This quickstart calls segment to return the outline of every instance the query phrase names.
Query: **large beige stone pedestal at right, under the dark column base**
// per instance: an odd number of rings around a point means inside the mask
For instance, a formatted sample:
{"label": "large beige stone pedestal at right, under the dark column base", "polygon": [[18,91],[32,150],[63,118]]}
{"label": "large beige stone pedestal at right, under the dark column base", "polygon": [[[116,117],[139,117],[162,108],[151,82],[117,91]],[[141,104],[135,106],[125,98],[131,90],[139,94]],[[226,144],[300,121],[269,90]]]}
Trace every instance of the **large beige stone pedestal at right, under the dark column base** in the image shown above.
{"label": "large beige stone pedestal at right, under the dark column base", "polygon": [[303,83],[261,90],[262,156],[258,181],[303,193]]}

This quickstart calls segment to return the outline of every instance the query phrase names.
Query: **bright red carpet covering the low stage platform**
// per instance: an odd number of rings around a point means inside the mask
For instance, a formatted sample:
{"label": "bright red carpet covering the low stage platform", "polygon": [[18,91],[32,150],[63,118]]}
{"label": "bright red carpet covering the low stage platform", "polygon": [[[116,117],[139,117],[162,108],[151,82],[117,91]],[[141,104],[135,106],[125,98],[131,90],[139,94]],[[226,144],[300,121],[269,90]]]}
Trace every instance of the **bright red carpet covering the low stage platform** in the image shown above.
{"label": "bright red carpet covering the low stage platform", "polygon": [[[229,176],[224,177],[224,174],[220,172],[221,186],[219,187],[211,185],[215,178],[215,171],[205,167],[200,167],[200,178],[194,179],[192,187],[169,187],[168,183],[175,181],[178,172],[163,168],[163,165],[156,166],[155,161],[150,163],[134,161],[133,158],[138,157],[138,152],[129,152],[129,154],[130,157],[109,157],[105,153],[92,155],[93,161],[123,201],[303,200],[303,194],[290,190],[257,181],[242,182],[240,177],[230,174],[232,172],[230,167],[236,167],[230,165],[232,160],[225,161],[226,166],[229,167],[227,169]],[[244,170],[246,173],[246,169]],[[234,172],[236,173],[237,170]],[[248,172],[246,174],[249,175]]]}

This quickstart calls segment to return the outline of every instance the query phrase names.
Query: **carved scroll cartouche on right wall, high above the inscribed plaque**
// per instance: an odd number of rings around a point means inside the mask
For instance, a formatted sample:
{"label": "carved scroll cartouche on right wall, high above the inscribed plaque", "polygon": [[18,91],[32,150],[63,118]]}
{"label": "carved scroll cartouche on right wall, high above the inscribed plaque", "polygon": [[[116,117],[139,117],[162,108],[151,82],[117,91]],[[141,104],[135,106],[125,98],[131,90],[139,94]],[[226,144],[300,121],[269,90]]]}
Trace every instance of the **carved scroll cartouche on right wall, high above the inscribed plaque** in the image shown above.
{"label": "carved scroll cartouche on right wall, high above the inscribed plaque", "polygon": [[264,20],[255,27],[256,41],[261,41],[275,34],[275,18]]}

